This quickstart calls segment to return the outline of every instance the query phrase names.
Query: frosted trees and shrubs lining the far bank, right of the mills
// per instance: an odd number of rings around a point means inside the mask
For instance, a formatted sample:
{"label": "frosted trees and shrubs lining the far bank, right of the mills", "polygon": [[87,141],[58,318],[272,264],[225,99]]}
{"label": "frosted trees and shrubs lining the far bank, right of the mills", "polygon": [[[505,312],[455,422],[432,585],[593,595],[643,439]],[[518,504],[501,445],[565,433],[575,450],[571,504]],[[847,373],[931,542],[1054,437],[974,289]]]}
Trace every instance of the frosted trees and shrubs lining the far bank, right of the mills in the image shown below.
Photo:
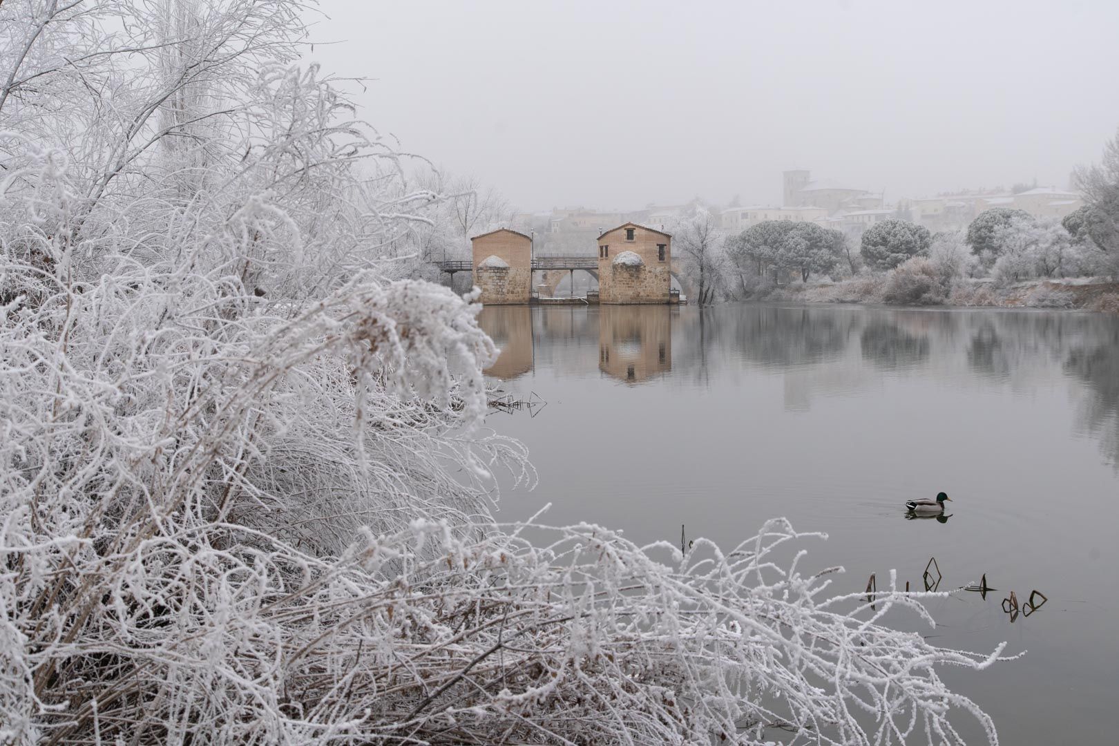
{"label": "frosted trees and shrubs lining the far bank, right of the mills", "polygon": [[[814,223],[763,221],[725,238],[727,266],[736,275],[725,292],[756,298],[781,285],[803,291],[815,276],[821,286],[847,281],[840,289],[824,287],[820,300],[982,305],[1023,281],[1117,280],[1119,134],[1102,163],[1079,169],[1076,181],[1087,204],[1062,220],[996,207],[966,229],[931,233],[900,214],[857,237]],[[1028,301],[1071,303],[1051,289]]]}

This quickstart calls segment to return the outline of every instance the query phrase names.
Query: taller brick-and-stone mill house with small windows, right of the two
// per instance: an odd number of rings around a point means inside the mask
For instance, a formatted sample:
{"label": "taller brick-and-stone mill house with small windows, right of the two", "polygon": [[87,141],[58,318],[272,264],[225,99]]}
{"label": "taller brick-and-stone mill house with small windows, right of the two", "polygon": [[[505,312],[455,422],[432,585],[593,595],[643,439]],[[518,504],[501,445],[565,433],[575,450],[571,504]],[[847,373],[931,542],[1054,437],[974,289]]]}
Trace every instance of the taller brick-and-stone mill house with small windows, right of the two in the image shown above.
{"label": "taller brick-and-stone mill house with small windows, right of the two", "polygon": [[[632,239],[627,238],[628,228],[633,229]],[[668,303],[671,249],[671,236],[633,224],[599,236],[599,302]],[[617,264],[623,252],[637,254],[641,263]]]}

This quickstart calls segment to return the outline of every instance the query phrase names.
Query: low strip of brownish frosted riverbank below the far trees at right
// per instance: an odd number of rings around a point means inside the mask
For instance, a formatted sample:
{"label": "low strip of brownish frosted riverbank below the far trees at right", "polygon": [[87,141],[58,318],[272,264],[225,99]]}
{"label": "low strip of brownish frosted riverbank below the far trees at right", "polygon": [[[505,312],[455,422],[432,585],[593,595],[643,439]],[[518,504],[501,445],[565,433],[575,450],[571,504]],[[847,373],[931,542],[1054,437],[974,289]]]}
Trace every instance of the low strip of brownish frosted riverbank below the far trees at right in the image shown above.
{"label": "low strip of brownish frosted riverbank below the far trees at right", "polygon": [[755,293],[750,300],[803,303],[894,303],[961,308],[1076,309],[1119,313],[1119,282],[1097,278],[1033,280],[998,286],[989,280],[957,280],[946,294],[925,294],[899,301],[888,275],[852,277],[839,282],[793,283]]}

